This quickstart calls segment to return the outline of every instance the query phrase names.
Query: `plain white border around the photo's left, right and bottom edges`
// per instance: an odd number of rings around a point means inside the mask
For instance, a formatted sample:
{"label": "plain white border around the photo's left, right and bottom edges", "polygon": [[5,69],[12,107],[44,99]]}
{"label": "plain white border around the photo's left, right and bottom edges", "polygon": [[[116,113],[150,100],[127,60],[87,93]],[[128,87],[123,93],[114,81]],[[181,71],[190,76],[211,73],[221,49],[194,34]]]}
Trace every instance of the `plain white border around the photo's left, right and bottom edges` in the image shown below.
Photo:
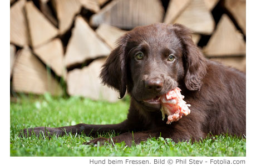
{"label": "plain white border around the photo's left, right and bottom edges", "polygon": [[[108,159],[109,157],[9,157],[9,1],[0,2],[1,17],[1,163],[8,165],[88,165],[88,160]],[[129,159],[238,159],[246,160],[245,165],[255,163],[255,1],[247,1],[247,157],[129,157]],[[8,70],[7,70],[8,69]],[[127,158],[127,157],[126,157]],[[111,159],[126,159],[125,157],[111,157]],[[107,164],[106,164],[107,165]],[[156,164],[155,164],[156,165]],[[163,164],[157,164],[163,165]],[[168,164],[165,164],[168,165]],[[187,164],[182,164],[187,165]],[[191,164],[188,164],[191,165]],[[196,164],[198,165],[198,164]],[[203,164],[208,165],[208,164]],[[211,164],[212,165],[212,164]],[[216,165],[216,164],[215,164]],[[221,164],[226,165],[226,164]],[[231,165],[231,164],[229,164]]]}

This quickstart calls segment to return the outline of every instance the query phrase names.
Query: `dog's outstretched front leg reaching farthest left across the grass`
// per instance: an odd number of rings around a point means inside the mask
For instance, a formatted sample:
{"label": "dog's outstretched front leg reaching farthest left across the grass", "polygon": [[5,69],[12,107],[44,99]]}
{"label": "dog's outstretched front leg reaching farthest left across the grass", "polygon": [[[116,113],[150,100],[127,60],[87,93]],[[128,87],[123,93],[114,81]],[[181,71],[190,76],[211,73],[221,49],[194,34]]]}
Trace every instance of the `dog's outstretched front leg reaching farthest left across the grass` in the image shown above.
{"label": "dog's outstretched front leg reaching farthest left across the grass", "polygon": [[40,133],[46,134],[48,137],[56,134],[57,136],[63,136],[65,133],[78,133],[86,134],[86,136],[96,136],[97,133],[105,133],[109,131],[115,131],[116,133],[129,132],[130,129],[133,129],[134,125],[130,124],[129,121],[125,120],[119,124],[115,125],[87,125],[87,124],[78,124],[75,126],[63,126],[57,128],[51,127],[35,127],[23,129],[21,136],[27,137],[31,136],[34,133],[36,136],[39,136]]}

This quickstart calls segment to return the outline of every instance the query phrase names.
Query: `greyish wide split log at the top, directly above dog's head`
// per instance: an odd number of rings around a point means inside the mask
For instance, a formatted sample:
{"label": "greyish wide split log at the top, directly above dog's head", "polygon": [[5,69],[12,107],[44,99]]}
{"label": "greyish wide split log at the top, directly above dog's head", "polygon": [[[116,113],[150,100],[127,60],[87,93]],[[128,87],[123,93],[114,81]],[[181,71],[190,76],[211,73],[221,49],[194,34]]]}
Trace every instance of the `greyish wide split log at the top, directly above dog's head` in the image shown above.
{"label": "greyish wide split log at the top, directly above dog's head", "polygon": [[164,8],[159,0],[114,0],[97,14],[92,15],[90,24],[97,27],[109,24],[132,29],[141,25],[162,22]]}

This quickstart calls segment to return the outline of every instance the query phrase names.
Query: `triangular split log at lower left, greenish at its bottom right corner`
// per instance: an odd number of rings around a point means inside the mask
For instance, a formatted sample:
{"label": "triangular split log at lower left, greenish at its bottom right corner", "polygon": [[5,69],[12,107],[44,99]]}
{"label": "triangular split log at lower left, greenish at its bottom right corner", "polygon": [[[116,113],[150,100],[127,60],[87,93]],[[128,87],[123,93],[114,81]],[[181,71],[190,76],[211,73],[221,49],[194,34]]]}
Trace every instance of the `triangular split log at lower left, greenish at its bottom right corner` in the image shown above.
{"label": "triangular split log at lower left, greenish at its bottom right corner", "polygon": [[32,94],[50,92],[52,95],[62,95],[58,82],[27,47],[23,48],[17,56],[12,83],[16,92]]}

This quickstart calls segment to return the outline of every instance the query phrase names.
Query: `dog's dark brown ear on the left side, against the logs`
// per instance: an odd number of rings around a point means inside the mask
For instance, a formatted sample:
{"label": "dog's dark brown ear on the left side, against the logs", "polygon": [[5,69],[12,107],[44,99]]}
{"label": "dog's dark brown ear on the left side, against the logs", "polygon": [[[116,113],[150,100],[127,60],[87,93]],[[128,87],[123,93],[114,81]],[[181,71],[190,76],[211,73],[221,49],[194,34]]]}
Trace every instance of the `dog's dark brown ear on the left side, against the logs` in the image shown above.
{"label": "dog's dark brown ear on the left side, against the logs", "polygon": [[125,48],[128,38],[126,33],[117,40],[117,47],[111,51],[100,73],[102,83],[119,91],[120,98],[124,97],[127,85]]}

